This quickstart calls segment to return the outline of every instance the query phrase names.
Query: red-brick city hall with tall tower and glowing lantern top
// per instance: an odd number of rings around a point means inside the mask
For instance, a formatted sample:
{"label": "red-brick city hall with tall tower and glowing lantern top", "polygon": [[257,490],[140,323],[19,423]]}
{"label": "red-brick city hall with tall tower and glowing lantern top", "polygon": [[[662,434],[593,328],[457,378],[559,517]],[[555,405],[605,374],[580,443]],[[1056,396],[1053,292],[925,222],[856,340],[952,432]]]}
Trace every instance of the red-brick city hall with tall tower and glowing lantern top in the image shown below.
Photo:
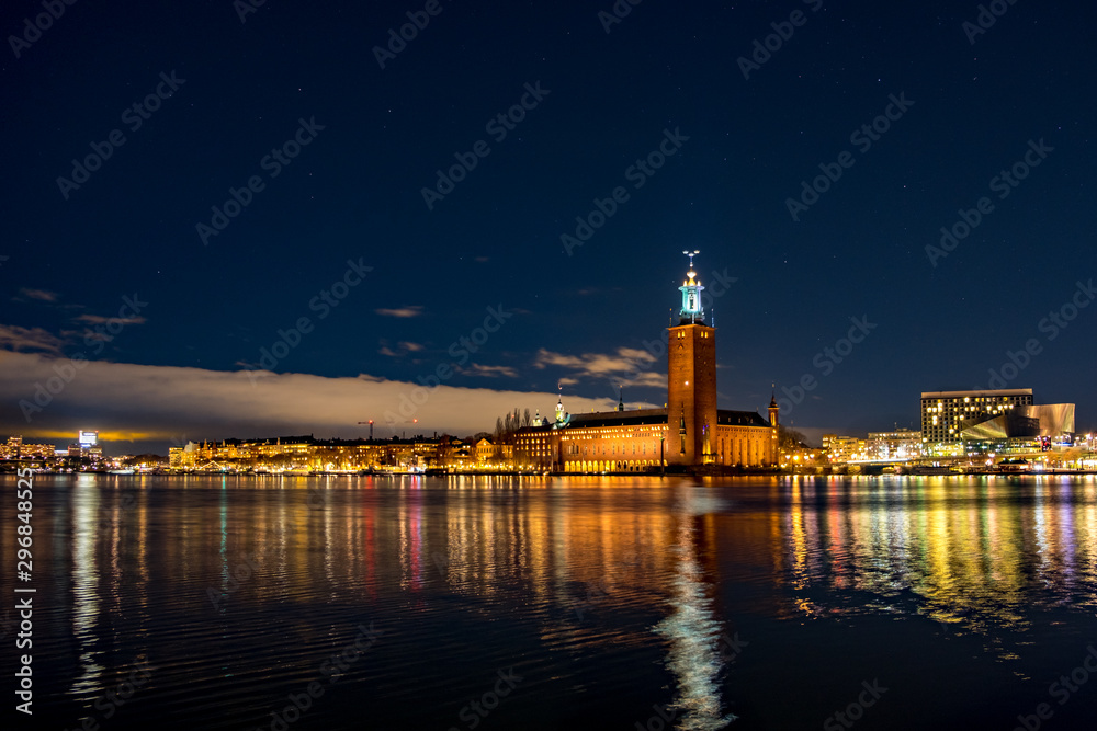
{"label": "red-brick city hall with tall tower and glowing lantern top", "polygon": [[[697,252],[694,252],[695,254]],[[716,330],[704,321],[704,287],[693,270],[686,281],[679,321],[667,344],[667,406],[568,414],[557,399],[554,421],[516,435],[519,469],[554,472],[644,472],[666,467],[771,467],[778,461],[778,407],[769,421],[757,412],[716,406]]]}

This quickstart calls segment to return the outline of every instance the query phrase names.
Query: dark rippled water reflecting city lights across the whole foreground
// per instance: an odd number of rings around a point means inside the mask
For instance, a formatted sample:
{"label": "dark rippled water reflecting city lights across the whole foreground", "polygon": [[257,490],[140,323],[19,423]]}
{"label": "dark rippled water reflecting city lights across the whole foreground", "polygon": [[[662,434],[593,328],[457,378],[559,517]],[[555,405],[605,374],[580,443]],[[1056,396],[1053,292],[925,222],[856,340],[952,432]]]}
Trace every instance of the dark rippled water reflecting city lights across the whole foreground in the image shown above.
{"label": "dark rippled water reflecting city lights across the whole foreground", "polygon": [[36,476],[34,493],[22,728],[1008,731],[1097,712],[1093,477]]}

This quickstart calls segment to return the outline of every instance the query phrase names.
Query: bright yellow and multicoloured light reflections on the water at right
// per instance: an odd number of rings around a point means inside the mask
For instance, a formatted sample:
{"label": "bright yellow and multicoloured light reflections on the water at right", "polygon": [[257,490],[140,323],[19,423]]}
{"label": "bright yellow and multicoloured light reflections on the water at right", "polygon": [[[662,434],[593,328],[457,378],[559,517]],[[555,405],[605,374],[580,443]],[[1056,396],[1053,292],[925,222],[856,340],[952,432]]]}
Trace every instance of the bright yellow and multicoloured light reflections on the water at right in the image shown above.
{"label": "bright yellow and multicoloured light reflections on the water at right", "polygon": [[1028,628],[1033,602],[1097,607],[1093,476],[792,478],[780,492],[778,582],[801,616],[925,615],[985,633]]}

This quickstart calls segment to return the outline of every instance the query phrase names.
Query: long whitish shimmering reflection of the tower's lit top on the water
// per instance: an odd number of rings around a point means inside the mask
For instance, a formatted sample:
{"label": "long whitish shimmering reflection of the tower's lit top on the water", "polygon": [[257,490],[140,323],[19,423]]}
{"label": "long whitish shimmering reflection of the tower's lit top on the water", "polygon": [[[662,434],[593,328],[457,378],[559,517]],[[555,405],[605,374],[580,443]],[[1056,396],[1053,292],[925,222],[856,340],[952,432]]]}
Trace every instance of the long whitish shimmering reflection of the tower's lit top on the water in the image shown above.
{"label": "long whitish shimmering reflection of the tower's lit top on the water", "polygon": [[703,495],[703,488],[683,486],[676,510],[676,540],[671,549],[677,555],[671,582],[672,614],[660,621],[655,631],[670,641],[667,666],[675,674],[677,688],[669,707],[681,712],[677,728],[682,731],[722,729],[734,716],[720,712],[720,671],[723,667],[716,651],[723,631],[712,610],[697,557],[694,521],[716,507]]}

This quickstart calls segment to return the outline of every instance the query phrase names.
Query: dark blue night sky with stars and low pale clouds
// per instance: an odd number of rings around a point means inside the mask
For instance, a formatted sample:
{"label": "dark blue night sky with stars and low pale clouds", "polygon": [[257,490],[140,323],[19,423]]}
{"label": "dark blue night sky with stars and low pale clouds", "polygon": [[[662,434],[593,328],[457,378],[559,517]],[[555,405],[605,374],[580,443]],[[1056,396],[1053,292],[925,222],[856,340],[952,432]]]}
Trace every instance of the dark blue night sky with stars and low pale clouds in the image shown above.
{"label": "dark blue night sky with stars and low pale clouds", "polygon": [[7,3],[0,433],[663,406],[687,249],[721,408],[776,381],[817,438],[995,385],[1092,429],[1097,11],[992,4]]}

